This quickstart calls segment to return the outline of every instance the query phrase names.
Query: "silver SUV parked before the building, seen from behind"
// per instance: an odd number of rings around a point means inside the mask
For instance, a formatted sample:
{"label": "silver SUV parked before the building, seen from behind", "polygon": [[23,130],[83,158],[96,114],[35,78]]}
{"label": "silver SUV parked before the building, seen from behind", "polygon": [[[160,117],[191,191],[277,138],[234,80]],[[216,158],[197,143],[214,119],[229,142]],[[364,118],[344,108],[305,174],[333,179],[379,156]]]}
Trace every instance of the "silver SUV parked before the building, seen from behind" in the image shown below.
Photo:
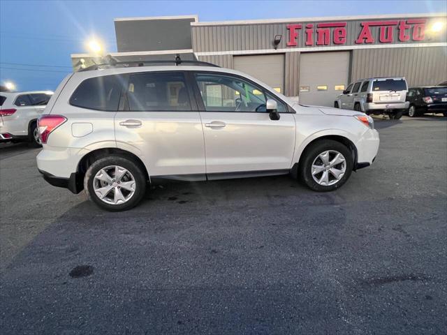
{"label": "silver SUV parked before the building, seen from behind", "polygon": [[404,77],[361,79],[349,84],[343,94],[337,96],[334,107],[400,119],[409,107],[409,102],[405,101],[407,91]]}

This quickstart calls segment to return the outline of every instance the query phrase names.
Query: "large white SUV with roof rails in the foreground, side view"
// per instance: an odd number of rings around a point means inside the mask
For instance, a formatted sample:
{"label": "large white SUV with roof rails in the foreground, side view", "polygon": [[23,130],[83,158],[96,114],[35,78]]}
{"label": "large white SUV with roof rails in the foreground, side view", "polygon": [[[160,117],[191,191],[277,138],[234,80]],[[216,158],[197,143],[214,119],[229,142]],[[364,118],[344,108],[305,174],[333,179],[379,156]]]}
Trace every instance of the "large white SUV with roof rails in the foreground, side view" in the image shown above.
{"label": "large white SUV with roof rails in the foreground, side view", "polygon": [[38,120],[45,180],[119,211],[147,182],[291,173],[331,191],[374,161],[379,134],[367,115],[305,107],[253,77],[198,64],[68,75]]}

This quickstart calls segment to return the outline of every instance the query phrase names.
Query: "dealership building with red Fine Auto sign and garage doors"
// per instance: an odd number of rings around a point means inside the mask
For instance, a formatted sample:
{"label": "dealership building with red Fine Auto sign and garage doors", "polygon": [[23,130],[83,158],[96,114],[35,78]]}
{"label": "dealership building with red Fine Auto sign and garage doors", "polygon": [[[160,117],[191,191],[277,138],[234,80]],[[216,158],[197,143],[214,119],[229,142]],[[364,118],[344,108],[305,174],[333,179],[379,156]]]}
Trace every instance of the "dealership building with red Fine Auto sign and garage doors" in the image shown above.
{"label": "dealership building with red Fine Auto sign and garage doors", "polygon": [[[119,61],[207,61],[248,73],[302,103],[333,105],[349,82],[447,80],[447,15],[379,15],[199,22],[196,15],[115,19]],[[101,62],[72,54],[73,69]]]}

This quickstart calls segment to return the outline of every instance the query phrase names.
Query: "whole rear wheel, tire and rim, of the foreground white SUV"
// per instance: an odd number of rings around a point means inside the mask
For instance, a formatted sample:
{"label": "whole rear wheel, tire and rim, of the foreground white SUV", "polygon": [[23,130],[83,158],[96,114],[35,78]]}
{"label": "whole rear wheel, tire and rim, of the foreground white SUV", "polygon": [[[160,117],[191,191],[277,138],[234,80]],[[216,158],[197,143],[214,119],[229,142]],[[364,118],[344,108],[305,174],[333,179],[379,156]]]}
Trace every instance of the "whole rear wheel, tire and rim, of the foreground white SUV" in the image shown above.
{"label": "whole rear wheel, tire and rim, of the foreground white SUV", "polygon": [[146,177],[140,166],[129,158],[100,158],[89,166],[84,178],[89,198],[108,211],[134,207],[146,191]]}

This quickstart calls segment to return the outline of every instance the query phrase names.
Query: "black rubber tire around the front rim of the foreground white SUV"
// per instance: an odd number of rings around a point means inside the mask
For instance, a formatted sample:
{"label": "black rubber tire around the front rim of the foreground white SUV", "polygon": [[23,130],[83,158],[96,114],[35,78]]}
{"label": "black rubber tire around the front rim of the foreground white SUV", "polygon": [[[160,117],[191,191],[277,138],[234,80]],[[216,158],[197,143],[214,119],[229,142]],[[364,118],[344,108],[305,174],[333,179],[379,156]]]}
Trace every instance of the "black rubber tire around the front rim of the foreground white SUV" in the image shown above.
{"label": "black rubber tire around the front rim of the foreground white SUV", "polygon": [[[314,180],[314,177],[312,177],[312,164],[319,154],[328,150],[338,151],[344,156],[346,162],[346,171],[344,172],[343,177],[335,184],[323,186],[321,184],[318,184]],[[349,150],[349,148],[347,148],[344,144],[334,140],[318,140],[317,142],[310,144],[310,146],[307,147],[303,152],[302,158],[300,159],[299,176],[301,181],[303,181],[312,190],[318,192],[327,192],[334,191],[335,189],[341,187],[346,182],[346,180],[349,179],[349,176],[351,176],[352,169],[353,158],[351,150]]]}

